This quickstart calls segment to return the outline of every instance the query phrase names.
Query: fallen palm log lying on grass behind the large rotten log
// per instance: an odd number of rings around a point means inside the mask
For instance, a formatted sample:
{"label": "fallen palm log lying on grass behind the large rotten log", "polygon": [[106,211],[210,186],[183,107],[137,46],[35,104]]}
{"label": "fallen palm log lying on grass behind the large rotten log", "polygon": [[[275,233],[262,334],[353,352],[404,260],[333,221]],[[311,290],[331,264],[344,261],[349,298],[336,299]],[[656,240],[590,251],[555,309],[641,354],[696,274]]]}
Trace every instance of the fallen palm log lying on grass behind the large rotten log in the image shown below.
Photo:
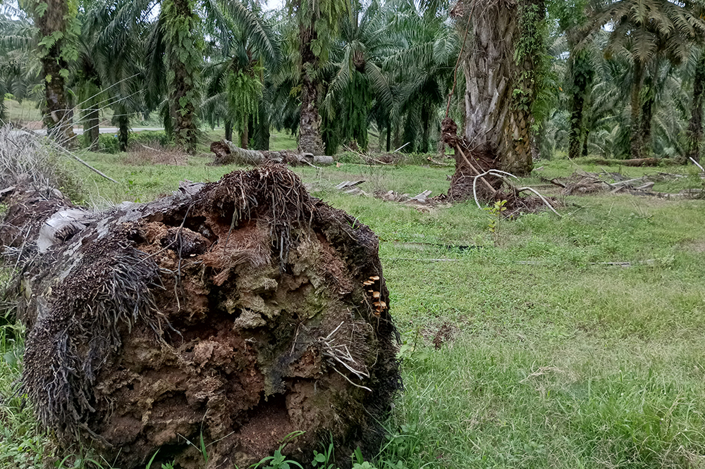
{"label": "fallen palm log lying on grass behind the large rotten log", "polygon": [[297,153],[296,151],[257,151],[246,150],[229,142],[221,140],[211,144],[215,155],[213,165],[262,165],[264,163],[286,163],[290,165],[332,165],[332,156]]}

